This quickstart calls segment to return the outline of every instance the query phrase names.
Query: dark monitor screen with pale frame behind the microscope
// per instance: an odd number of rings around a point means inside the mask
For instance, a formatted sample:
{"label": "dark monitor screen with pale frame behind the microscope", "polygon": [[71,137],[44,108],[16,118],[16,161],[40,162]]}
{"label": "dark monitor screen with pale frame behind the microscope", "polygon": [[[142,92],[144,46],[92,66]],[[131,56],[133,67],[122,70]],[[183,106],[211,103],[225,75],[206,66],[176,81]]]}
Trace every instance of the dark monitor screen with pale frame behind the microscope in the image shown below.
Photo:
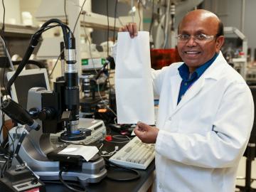
{"label": "dark monitor screen with pale frame behind the microscope", "polygon": [[[10,80],[14,73],[14,71],[7,73],[7,79]],[[45,68],[23,70],[14,81],[14,84],[11,85],[12,99],[24,109],[27,109],[28,90],[32,87],[44,87],[46,90],[50,90]]]}

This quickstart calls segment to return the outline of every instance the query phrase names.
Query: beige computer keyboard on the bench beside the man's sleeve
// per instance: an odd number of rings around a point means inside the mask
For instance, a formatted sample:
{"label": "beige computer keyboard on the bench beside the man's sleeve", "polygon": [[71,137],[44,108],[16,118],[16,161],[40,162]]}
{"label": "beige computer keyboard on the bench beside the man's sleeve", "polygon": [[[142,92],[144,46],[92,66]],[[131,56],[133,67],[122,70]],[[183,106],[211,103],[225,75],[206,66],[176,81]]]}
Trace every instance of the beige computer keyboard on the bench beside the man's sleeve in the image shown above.
{"label": "beige computer keyboard on the bench beside the man's sleeve", "polygon": [[144,144],[134,137],[114,154],[110,161],[135,169],[146,169],[154,159],[154,144]]}

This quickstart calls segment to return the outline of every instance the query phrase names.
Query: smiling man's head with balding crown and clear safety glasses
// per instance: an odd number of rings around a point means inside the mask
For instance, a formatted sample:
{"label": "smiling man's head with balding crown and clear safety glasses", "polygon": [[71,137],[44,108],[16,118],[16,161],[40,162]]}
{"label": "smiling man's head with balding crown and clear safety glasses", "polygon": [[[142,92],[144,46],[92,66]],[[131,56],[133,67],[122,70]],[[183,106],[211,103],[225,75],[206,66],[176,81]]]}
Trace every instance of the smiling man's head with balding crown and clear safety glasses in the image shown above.
{"label": "smiling man's head with balding crown and clear safety glasses", "polygon": [[178,53],[190,73],[218,54],[223,43],[223,24],[208,11],[192,11],[178,27]]}

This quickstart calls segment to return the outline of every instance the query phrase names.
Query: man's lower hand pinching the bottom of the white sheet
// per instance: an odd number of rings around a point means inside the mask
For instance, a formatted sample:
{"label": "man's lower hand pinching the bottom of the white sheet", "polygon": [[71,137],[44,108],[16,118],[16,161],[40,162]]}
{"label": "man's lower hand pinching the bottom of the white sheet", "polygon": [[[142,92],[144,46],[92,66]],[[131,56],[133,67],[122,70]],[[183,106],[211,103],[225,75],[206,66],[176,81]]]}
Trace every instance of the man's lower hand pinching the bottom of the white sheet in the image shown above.
{"label": "man's lower hand pinching the bottom of the white sheet", "polygon": [[146,144],[156,143],[156,137],[159,132],[159,129],[156,127],[151,127],[148,124],[143,122],[138,122],[137,126],[134,129],[134,133]]}

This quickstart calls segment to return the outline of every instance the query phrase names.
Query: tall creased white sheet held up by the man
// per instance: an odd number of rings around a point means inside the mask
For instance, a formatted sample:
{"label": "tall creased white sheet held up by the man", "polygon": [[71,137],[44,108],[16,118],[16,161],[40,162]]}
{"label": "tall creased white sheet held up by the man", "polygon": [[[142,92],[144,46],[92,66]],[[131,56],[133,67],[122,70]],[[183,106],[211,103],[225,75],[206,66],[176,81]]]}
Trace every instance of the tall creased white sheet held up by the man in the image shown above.
{"label": "tall creased white sheet held up by the man", "polygon": [[149,32],[130,38],[119,32],[115,68],[117,123],[154,124],[154,95],[151,82]]}

